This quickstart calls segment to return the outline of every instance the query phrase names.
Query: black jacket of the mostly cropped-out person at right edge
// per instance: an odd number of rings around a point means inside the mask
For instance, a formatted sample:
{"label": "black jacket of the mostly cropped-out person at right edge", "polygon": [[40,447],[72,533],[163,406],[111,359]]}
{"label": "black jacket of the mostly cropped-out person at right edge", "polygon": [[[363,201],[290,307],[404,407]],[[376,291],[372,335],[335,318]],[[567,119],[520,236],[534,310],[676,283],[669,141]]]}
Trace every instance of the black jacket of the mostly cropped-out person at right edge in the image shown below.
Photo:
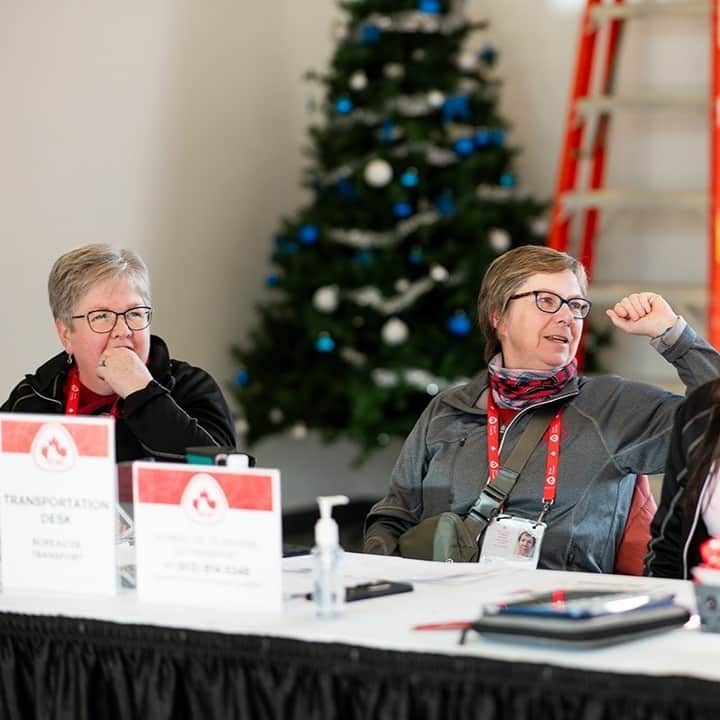
{"label": "black jacket of the mostly cropped-out person at right edge", "polygon": [[[699,504],[688,512],[683,496],[696,471],[697,452],[716,409],[712,400],[715,382],[697,388],[675,415],[660,505],[650,525],[651,540],[645,558],[647,575],[689,579],[692,568],[701,562],[699,548],[707,540],[708,530]],[[707,482],[710,463],[700,470],[703,482]]]}

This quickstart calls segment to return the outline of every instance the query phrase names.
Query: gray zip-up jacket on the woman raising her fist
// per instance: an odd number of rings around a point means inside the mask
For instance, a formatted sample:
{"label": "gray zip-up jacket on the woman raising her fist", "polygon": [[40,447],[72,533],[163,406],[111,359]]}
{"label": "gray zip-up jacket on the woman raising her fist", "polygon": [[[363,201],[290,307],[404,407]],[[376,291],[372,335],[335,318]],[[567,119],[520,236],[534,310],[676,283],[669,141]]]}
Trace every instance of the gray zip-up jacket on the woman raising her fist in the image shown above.
{"label": "gray zip-up jacket on the woman raising her fist", "polygon": [[[680,319],[672,344],[653,346],[692,389],[720,375],[720,355]],[[397,553],[397,539],[432,515],[465,515],[487,479],[487,372],[437,395],[403,445],[388,494],[366,520],[365,551]],[[612,572],[635,475],[662,472],[673,415],[682,396],[616,375],[579,377],[565,400],[555,504],[539,567]],[[517,442],[532,408],[505,429],[501,458]],[[521,473],[505,511],[537,518],[542,509],[546,444]]]}

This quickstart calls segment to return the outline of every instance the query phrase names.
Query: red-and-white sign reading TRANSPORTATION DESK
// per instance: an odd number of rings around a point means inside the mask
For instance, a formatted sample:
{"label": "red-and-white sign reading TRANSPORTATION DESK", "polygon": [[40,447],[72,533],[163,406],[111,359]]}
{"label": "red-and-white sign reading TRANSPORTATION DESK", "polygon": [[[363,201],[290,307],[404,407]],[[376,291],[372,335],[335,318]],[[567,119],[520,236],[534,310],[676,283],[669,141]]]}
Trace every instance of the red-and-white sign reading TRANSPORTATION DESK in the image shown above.
{"label": "red-and-white sign reading TRANSPORTATION DESK", "polygon": [[0,413],[3,590],[116,592],[114,424]]}

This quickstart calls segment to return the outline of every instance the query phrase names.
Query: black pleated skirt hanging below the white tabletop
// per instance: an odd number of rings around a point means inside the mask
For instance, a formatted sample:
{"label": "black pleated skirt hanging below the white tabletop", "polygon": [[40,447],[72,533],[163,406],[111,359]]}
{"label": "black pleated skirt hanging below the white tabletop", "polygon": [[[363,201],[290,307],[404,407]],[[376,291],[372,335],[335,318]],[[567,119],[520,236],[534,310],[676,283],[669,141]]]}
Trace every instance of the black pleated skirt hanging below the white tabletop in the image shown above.
{"label": "black pleated skirt hanging below the white tabletop", "polygon": [[689,678],[0,615],[2,720],[717,720],[719,713],[720,684]]}

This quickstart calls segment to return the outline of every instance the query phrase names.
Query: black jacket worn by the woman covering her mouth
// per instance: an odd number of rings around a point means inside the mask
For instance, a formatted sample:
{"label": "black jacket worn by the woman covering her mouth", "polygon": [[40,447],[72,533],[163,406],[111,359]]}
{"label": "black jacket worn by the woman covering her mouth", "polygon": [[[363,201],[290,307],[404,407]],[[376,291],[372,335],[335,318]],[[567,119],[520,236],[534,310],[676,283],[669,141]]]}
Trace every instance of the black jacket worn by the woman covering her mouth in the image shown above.
{"label": "black jacket worn by the woman covering her mouth", "polygon": [[[62,414],[69,369],[60,353],[26,375],[0,408],[2,412]],[[235,427],[217,383],[200,368],[170,358],[167,345],[153,335],[148,369],[153,380],[118,406],[115,455],[118,462],[154,458],[184,460],[185,448],[235,446]],[[98,413],[109,409],[100,409]]]}

